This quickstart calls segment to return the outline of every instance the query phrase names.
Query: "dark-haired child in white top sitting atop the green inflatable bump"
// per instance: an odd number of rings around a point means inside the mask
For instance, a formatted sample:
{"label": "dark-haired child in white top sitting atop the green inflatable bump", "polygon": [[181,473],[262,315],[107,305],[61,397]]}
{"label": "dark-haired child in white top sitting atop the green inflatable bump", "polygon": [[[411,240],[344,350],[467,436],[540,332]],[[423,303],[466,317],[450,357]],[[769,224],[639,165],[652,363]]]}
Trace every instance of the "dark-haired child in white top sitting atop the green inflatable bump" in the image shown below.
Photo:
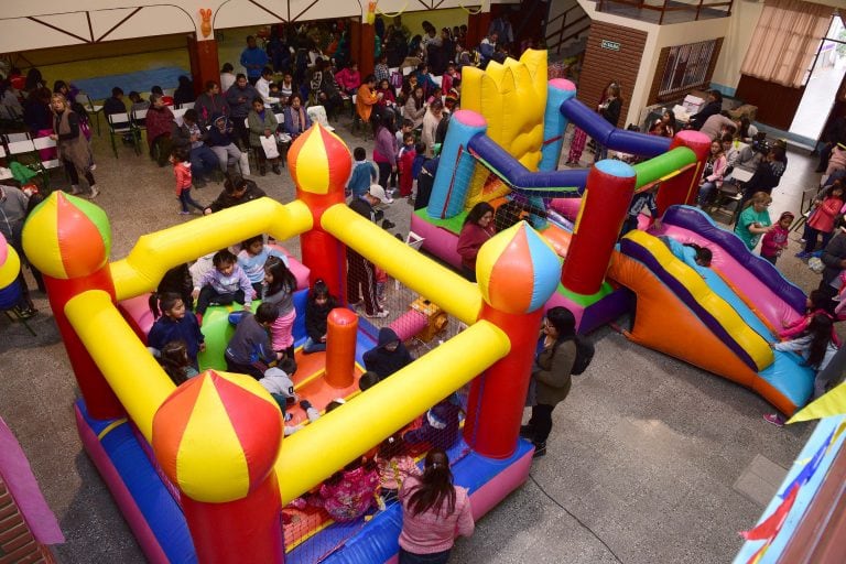
{"label": "dark-haired child in white top sitting atop the green inflatable bump", "polygon": [[[209,305],[243,304],[246,311],[252,306],[252,284],[237,264],[235,254],[224,249],[212,258],[214,270],[206,272],[191,293],[197,301],[197,315],[206,313]],[[202,289],[202,290],[200,290]]]}

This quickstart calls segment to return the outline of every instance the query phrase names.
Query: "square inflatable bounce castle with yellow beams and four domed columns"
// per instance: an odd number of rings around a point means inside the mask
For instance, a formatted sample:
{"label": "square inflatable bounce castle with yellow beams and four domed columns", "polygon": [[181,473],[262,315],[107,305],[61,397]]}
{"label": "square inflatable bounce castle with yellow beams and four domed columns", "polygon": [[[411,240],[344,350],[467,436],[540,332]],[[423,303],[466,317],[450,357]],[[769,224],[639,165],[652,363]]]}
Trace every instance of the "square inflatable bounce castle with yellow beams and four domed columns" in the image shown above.
{"label": "square inflatable bounce castle with yellow beams and four domed columns", "polygon": [[[398,505],[354,523],[283,507],[468,383],[463,437],[448,452],[474,514],[528,477],[532,447],[518,431],[543,304],[561,269],[554,249],[528,224],[516,225],[481,249],[479,284],[471,284],[346,206],[351,160],[335,134],[314,126],[288,159],[294,202],[261,198],[147,235],[115,262],[108,218],[90,202],[56,192],[24,227],[82,391],[83,444],[151,562],[392,561]],[[467,328],[357,394],[373,327],[336,310],[328,350],[300,357],[294,383],[315,405],[348,401],[284,437],[282,412],[264,388],[223,370],[225,310],[204,316],[207,346],[217,348],[200,359],[206,370],[176,387],[145,347],[138,305],[169,269],[258,234],[300,237],[303,264],[292,270],[302,285],[323,279],[345,296],[349,248]],[[301,316],[305,292],[294,300]],[[294,336],[301,345],[302,324]]]}

